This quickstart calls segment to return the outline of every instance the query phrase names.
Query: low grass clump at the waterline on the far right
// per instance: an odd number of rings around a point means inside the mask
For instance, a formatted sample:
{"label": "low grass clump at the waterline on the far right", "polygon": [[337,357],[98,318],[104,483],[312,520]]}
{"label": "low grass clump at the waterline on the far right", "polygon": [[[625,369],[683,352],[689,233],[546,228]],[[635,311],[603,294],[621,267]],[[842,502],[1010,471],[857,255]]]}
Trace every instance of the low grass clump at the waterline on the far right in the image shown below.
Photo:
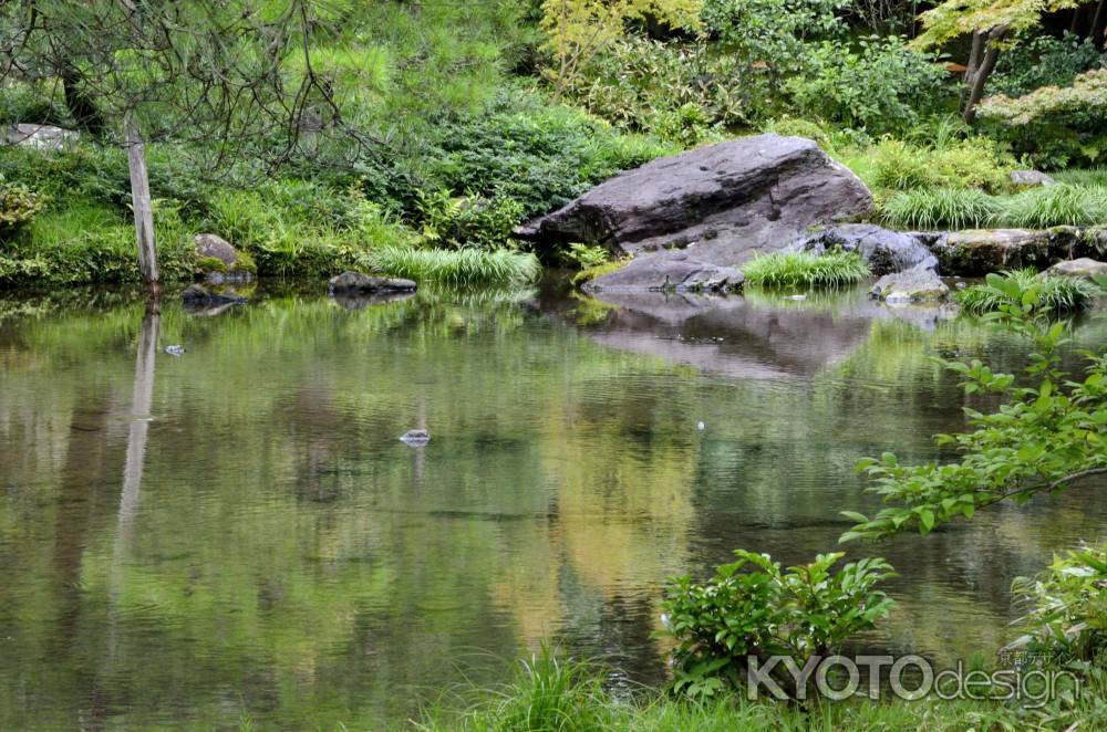
{"label": "low grass clump at the waterline on the far right", "polygon": [[958,292],[956,299],[966,312],[982,315],[1004,305],[1018,304],[1022,293],[1031,287],[1038,291],[1036,310],[1051,313],[1087,310],[1101,294],[1097,285],[1083,278],[1051,276],[1038,274],[1034,270],[1014,270],[990,274],[984,283]]}

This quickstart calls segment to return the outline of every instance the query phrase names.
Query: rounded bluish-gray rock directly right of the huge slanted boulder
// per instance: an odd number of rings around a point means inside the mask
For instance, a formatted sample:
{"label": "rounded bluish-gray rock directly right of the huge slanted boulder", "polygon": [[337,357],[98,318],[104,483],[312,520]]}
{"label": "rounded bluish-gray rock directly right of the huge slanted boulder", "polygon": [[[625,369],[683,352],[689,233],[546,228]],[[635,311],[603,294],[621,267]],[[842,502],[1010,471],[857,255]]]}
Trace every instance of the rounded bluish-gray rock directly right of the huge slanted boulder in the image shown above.
{"label": "rounded bluish-gray rock directly right of the huge slanted boulder", "polygon": [[872,223],[823,227],[797,244],[820,257],[835,247],[858,252],[876,275],[915,266],[938,268],[938,258],[923,245],[919,234],[889,231]]}

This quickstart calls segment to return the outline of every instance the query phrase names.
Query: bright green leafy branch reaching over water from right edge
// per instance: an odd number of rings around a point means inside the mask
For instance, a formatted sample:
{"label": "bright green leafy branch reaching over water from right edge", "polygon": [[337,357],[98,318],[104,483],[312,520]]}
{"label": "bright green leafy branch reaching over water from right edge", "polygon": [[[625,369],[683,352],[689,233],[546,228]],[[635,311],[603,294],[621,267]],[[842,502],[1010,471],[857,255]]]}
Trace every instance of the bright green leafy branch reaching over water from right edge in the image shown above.
{"label": "bright green leafy branch reaching over water from right edge", "polygon": [[980,360],[939,359],[961,374],[966,395],[995,395],[1003,404],[992,414],[965,408],[972,431],[935,437],[939,445],[954,446],[960,461],[901,466],[891,452],[861,460],[858,469],[876,479],[871,490],[888,506],[871,519],[844,512],[858,523],[840,541],[881,538],[907,529],[927,534],[954,519],[971,519],[977,509],[1022,504],[1107,474],[1107,353],[1083,352],[1083,378],[1074,380],[1061,366],[1066,324],[1042,316],[1042,285],[1014,278],[1001,284],[1013,290],[1011,302],[985,317],[1034,342],[1024,372],[1035,386],[1020,386],[1014,374],[993,372]]}

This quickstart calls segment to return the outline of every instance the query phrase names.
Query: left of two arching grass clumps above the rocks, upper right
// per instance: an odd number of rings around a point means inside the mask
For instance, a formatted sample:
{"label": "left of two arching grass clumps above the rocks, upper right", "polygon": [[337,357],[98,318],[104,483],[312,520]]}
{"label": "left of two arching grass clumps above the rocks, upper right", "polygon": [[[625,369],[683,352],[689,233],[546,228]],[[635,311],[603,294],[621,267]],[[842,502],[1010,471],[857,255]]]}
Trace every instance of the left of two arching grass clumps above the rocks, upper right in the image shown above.
{"label": "left of two arching grass clumps above the rocks, upper right", "polygon": [[889,198],[884,221],[904,229],[981,229],[1003,215],[999,199],[975,188],[917,188]]}

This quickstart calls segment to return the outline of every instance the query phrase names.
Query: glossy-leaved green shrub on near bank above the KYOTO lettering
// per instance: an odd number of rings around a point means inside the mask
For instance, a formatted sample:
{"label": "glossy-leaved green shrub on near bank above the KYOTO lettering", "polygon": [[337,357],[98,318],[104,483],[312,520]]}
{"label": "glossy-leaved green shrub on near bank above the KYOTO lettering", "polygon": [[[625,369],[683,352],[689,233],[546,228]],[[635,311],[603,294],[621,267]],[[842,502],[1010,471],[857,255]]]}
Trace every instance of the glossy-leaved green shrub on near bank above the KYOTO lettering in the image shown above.
{"label": "glossy-leaved green shrub on near bank above the KYOTO lettering", "polygon": [[[832,655],[873,628],[894,605],[876,589],[896,576],[881,558],[831,573],[844,554],[820,554],[786,571],[767,554],[734,554],[737,561],[718,567],[706,583],[683,576],[669,587],[662,635],[676,641],[677,693],[703,699],[741,689],[751,656],[790,656],[803,668],[811,656]],[[792,698],[803,694],[783,666],[769,673]]]}

